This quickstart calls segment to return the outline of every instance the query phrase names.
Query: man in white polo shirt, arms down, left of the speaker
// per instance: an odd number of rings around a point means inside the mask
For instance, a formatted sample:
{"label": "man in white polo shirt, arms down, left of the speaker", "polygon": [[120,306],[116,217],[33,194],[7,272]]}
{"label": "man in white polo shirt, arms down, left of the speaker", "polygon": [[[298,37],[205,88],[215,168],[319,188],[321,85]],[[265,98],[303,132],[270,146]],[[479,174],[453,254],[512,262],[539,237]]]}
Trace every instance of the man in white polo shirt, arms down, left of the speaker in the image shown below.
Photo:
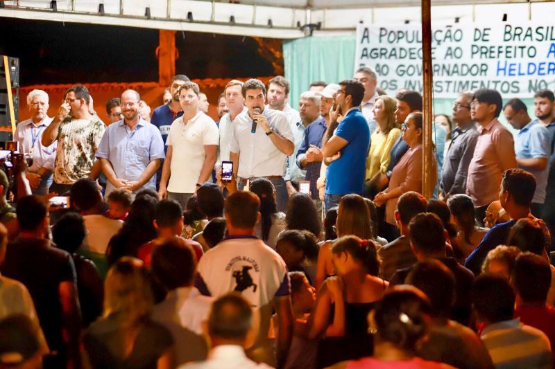
{"label": "man in white polo shirt, arms down, left of the speaker", "polygon": [[174,199],[185,208],[189,198],[212,175],[219,143],[218,127],[198,110],[198,84],[179,88],[183,116],[171,123],[166,160],[160,180],[160,198]]}

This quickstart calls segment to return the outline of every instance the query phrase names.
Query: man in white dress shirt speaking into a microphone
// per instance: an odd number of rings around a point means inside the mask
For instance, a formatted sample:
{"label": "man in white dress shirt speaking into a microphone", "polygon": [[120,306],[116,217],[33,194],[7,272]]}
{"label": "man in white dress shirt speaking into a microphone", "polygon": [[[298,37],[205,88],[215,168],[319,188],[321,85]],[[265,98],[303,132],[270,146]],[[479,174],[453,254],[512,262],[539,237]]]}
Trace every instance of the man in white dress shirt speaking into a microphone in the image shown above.
{"label": "man in white dress shirt speaking into a microphone", "polygon": [[241,92],[247,111],[235,118],[230,145],[239,190],[247,179],[265,177],[275,186],[278,211],[285,211],[289,196],[283,177],[287,156],[295,150],[291,125],[284,113],[264,106],[266,87],[261,81],[248,80]]}

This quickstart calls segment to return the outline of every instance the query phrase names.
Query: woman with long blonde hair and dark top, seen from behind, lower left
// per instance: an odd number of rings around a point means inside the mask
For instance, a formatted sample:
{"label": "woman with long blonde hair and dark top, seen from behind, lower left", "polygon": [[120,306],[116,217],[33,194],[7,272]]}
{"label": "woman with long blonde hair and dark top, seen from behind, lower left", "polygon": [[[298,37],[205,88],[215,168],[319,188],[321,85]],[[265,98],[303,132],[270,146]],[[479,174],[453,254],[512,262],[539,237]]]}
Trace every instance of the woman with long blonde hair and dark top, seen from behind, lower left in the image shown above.
{"label": "woman with long blonde hair and dark top, seen from behind, lower left", "polygon": [[154,300],[143,262],[121,258],[104,285],[103,317],[83,336],[85,368],[173,368],[171,334],[150,318]]}

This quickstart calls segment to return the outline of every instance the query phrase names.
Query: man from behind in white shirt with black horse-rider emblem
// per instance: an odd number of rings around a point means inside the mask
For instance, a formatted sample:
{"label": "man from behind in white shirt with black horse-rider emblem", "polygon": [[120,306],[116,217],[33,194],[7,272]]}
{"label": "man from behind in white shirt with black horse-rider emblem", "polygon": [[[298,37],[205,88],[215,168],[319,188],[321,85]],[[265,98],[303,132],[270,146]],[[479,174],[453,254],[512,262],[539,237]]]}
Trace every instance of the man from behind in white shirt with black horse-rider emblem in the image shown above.
{"label": "man from behind in white shirt with black horse-rider emblem", "polygon": [[[195,286],[219,298],[235,291],[250,303],[256,336],[246,354],[257,362],[282,368],[291,345],[293,312],[287,267],[281,256],[255,236],[260,200],[253,192],[235,192],[225,200],[228,237],[198,262]],[[276,347],[268,336],[272,311],[278,314]]]}

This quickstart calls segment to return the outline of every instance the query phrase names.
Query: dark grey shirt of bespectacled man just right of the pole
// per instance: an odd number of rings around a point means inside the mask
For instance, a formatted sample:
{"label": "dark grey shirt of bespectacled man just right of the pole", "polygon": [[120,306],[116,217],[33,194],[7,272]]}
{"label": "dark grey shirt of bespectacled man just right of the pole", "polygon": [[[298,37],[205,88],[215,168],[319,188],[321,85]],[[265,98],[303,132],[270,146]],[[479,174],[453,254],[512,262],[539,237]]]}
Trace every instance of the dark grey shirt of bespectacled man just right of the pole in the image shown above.
{"label": "dark grey shirt of bespectacled man just right of the pole", "polygon": [[474,155],[478,136],[474,122],[468,122],[452,130],[451,143],[445,155],[441,174],[441,188],[445,195],[466,192],[468,165]]}

